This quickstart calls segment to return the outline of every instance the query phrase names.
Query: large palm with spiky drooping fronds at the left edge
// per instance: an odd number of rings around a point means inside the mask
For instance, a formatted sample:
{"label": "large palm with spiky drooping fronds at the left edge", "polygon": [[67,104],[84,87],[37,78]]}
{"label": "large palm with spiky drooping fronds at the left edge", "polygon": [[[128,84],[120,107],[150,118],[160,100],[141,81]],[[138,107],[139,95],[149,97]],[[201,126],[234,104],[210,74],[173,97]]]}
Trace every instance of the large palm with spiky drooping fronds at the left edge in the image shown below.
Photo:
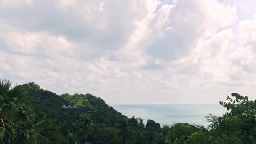
{"label": "large palm with spiky drooping fronds at the left edge", "polygon": [[0,143],[37,143],[33,126],[35,114],[21,85],[11,86],[9,80],[0,80]]}

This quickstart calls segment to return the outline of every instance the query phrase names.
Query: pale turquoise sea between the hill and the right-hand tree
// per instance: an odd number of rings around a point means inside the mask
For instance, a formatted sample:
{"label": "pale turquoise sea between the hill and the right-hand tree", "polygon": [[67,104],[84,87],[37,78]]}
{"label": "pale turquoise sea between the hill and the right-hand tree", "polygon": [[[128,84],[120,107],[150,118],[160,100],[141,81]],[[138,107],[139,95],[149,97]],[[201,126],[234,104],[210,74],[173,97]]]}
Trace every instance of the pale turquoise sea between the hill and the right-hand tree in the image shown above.
{"label": "pale turquoise sea between the hill and the right-hand tree", "polygon": [[[219,104],[115,104],[114,109],[131,118],[151,119],[163,125],[173,123],[209,125],[205,116],[209,113],[222,116],[227,109]],[[146,124],[146,121],[144,121]]]}

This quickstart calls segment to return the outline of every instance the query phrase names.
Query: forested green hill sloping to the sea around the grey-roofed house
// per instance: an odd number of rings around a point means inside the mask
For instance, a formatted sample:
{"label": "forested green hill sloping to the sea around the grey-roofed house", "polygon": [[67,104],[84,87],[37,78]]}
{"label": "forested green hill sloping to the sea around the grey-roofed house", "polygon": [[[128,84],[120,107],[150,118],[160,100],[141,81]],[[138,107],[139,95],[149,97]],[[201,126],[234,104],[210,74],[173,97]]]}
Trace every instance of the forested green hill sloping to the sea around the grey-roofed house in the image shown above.
{"label": "forested green hill sloping to the sea around the grey-roofed house", "polygon": [[[103,99],[91,94],[69,95],[65,93],[59,96],[51,91],[41,89],[34,82],[29,82],[23,86],[32,109],[52,123],[53,128],[48,129],[46,136],[51,141],[60,139],[60,135],[65,137],[70,133],[75,128],[74,122],[79,120],[82,114],[90,114],[94,123],[98,124],[98,126],[115,127],[116,123],[127,119],[113,107],[107,105]],[[79,110],[67,111],[61,109],[63,104],[67,105],[68,103],[71,105],[76,104]],[[59,132],[57,135],[56,130]]]}

